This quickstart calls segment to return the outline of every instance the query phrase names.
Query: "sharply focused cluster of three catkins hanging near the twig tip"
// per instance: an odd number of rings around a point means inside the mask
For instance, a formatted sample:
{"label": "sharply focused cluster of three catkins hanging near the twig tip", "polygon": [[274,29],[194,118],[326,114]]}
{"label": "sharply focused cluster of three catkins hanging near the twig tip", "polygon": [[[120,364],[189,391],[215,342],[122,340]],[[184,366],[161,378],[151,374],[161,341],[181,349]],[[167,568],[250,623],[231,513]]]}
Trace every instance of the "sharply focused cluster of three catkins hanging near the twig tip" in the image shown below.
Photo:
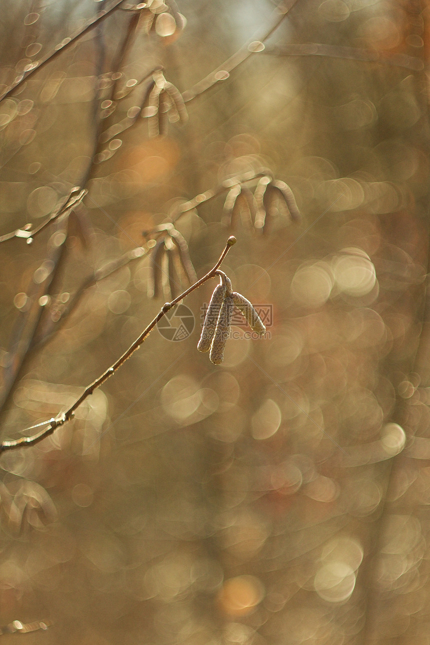
{"label": "sharply focused cluster of three catkins hanging near the twig tip", "polygon": [[240,293],[233,292],[230,279],[221,277],[221,283],[213,290],[204,319],[202,333],[197,349],[199,352],[210,350],[210,360],[219,365],[224,360],[224,349],[230,335],[233,308],[237,306],[244,315],[253,332],[264,333],[266,327],[252,304]]}

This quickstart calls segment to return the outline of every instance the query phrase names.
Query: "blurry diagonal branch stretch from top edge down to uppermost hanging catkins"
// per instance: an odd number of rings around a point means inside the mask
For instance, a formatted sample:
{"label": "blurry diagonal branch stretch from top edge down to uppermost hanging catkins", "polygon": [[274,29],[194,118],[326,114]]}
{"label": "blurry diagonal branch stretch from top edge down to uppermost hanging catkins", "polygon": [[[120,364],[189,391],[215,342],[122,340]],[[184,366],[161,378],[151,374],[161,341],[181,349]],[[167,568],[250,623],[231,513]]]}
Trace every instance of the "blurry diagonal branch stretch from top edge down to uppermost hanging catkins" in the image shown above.
{"label": "blurry diagonal branch stretch from top edge down to uppermost hanging catkins", "polygon": [[219,81],[224,81],[226,78],[228,78],[230,72],[235,70],[235,68],[246,61],[252,54],[258,54],[259,52],[262,52],[262,50],[264,50],[264,45],[262,45],[262,43],[264,43],[264,41],[266,41],[275,30],[277,30],[280,23],[282,23],[289,10],[295,5],[296,2],[297,0],[293,0],[293,2],[289,3],[288,6],[286,5],[286,3],[280,3],[280,5],[278,5],[271,14],[272,24],[268,28],[268,30],[266,30],[264,34],[260,35],[259,38],[251,38],[246,41],[246,43],[242,45],[242,47],[240,47],[240,49],[237,50],[235,54],[224,61],[224,63],[217,67],[216,70],[213,70],[213,72],[199,81],[199,83],[193,85],[190,90],[183,92],[182,99],[184,99],[184,103],[189,103],[190,101],[195,99],[195,97],[203,94],[203,92],[209,90],[211,87],[213,87],[213,85],[219,83]]}

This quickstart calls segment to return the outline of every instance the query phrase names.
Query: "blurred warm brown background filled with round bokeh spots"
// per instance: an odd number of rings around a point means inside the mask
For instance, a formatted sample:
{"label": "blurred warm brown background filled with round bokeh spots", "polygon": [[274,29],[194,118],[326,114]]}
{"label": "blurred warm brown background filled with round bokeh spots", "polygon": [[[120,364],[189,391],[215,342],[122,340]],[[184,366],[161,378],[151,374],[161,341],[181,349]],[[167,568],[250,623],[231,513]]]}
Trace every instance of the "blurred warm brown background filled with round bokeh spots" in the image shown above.
{"label": "blurred warm brown background filled with round bokeh spots", "polygon": [[[105,4],[4,1],[3,90]],[[93,158],[113,73],[126,94],[162,64],[186,92],[274,8],[180,1],[181,33],[142,21],[122,54],[135,14],[118,9],[0,103],[0,235],[89,189],[66,241],[58,221],[0,245],[2,439],[70,405],[157,313],[146,257],[91,276],[175,200],[264,166],[302,212],[239,224],[223,266],[273,306],[270,337],[213,366],[206,284],[190,338],[155,330],[75,421],[3,453],[0,626],[52,622],[5,643],[430,644],[427,6],[297,0],[188,123],[150,139],[139,117]],[[199,276],[231,234],[223,201],[177,224]]]}

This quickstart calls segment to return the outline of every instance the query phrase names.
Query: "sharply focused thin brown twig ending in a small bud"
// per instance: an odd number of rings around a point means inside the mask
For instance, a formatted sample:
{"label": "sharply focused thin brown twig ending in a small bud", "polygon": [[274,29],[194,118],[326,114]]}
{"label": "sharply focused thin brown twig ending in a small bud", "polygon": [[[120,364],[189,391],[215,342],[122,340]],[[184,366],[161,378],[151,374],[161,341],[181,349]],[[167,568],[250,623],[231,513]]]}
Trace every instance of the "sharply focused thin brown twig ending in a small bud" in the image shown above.
{"label": "sharply focused thin brown twig ending in a small bud", "polygon": [[200,280],[198,280],[195,284],[192,284],[190,288],[188,288],[186,291],[181,293],[181,295],[177,296],[175,299],[171,301],[171,303],[165,303],[160,312],[155,316],[155,318],[151,321],[150,324],[146,327],[146,329],[141,333],[141,335],[130,345],[128,350],[122,354],[117,361],[115,361],[110,368],[105,370],[103,374],[101,374],[95,381],[93,381],[90,385],[88,385],[84,392],[81,394],[81,396],[66,410],[66,412],[61,413],[59,416],[49,419],[49,421],[42,422],[37,424],[36,426],[31,426],[30,428],[26,428],[24,432],[29,432],[30,430],[34,430],[34,428],[38,428],[40,426],[48,425],[48,428],[45,428],[44,430],[41,430],[40,432],[36,433],[35,435],[32,435],[30,437],[21,437],[21,439],[15,439],[13,441],[3,441],[0,443],[0,453],[4,452],[5,450],[14,450],[14,448],[22,448],[23,446],[33,446],[34,444],[38,443],[39,441],[42,441],[45,437],[48,437],[49,435],[52,435],[54,430],[59,428],[60,426],[63,426],[66,422],[70,421],[72,419],[73,414],[75,413],[75,410],[79,408],[79,406],[94,392],[94,390],[97,390],[105,381],[107,381],[119,368],[121,367],[124,362],[126,362],[127,359],[130,358],[130,356],[139,349],[141,346],[142,342],[146,340],[150,332],[153,330],[153,328],[156,326],[156,324],[166,315],[166,313],[173,307],[173,305],[179,303],[182,299],[184,299],[189,293],[193,292],[195,289],[198,289],[199,286],[201,286],[203,283],[206,281],[210,280],[211,278],[215,277],[217,275],[217,269],[219,268],[220,264],[224,260],[224,257],[226,257],[228,251],[230,250],[230,247],[233,246],[233,244],[236,243],[236,238],[231,236],[229,237],[227,244],[221,253],[219,260],[217,263],[211,268],[211,270],[206,273]]}

